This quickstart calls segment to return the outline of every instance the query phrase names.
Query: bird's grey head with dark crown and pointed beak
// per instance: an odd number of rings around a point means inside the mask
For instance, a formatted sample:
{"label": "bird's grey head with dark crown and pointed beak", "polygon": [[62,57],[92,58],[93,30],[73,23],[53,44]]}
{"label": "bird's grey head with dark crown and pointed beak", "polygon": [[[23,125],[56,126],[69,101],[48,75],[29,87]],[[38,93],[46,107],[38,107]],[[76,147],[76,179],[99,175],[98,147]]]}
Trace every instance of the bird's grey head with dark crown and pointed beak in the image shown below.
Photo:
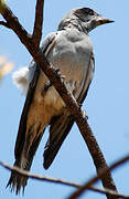
{"label": "bird's grey head with dark crown and pointed beak", "polygon": [[68,22],[75,25],[76,23],[78,23],[78,25],[82,25],[84,30],[89,32],[98,25],[111,23],[114,21],[105,17],[101,17],[100,14],[98,14],[89,8],[78,8],[71,10],[66,14],[66,17],[61,21],[60,25],[62,25],[63,23],[67,24]]}

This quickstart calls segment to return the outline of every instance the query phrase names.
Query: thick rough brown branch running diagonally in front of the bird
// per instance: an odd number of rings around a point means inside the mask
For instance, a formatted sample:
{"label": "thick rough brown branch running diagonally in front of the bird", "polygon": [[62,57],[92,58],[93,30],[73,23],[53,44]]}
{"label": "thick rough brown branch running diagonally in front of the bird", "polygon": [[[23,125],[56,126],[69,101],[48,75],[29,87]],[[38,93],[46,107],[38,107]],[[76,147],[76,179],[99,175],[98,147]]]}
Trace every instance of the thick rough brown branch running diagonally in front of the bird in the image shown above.
{"label": "thick rough brown branch running diagonally in front of the bird", "polygon": [[[2,1],[0,0],[0,8],[1,7]],[[30,54],[34,57],[35,62],[40,65],[41,70],[50,78],[51,83],[54,85],[54,87],[67,105],[69,112],[72,113],[78,125],[78,128],[82,133],[82,136],[84,137],[85,143],[87,144],[87,147],[95,163],[97,174],[99,175],[101,168],[107,169],[108,166],[86,118],[83,117],[80,107],[78,106],[77,102],[73,97],[72,93],[67,91],[65,84],[61,80],[61,76],[54,70],[52,64],[47,62],[45,56],[42,54],[41,50],[35,46],[35,42],[26,32],[26,30],[20,24],[18,18],[12,13],[9,7],[4,4],[0,10],[4,20],[10,24],[10,28],[19,36],[21,42],[26,46]],[[105,188],[117,191],[111,174],[108,169],[105,176],[101,176],[101,181]],[[108,199],[118,198],[110,197],[109,195],[107,195],[107,197]]]}

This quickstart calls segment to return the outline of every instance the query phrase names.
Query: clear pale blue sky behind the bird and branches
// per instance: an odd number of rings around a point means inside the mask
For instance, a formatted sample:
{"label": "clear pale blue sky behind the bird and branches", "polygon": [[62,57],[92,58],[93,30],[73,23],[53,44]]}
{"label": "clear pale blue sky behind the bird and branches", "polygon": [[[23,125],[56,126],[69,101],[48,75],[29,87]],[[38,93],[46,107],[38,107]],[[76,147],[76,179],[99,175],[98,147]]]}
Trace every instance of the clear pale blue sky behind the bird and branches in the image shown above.
{"label": "clear pale blue sky behind the bird and branches", "polygon": [[[35,0],[10,0],[8,4],[24,28],[32,32]],[[108,164],[129,153],[129,0],[47,0],[45,1],[43,38],[56,30],[62,17],[73,8],[89,7],[98,13],[115,20],[92,33],[95,52],[95,75],[84,108],[88,123],[99,143]],[[17,35],[0,27],[0,56],[14,62],[14,70],[26,65],[31,56]],[[12,84],[11,75],[0,85],[0,160],[12,165],[13,149],[22,112],[24,96]],[[35,155],[32,171],[83,184],[96,174],[85,143],[74,125],[60,153],[49,170],[43,169],[43,148],[47,134],[43,137]],[[112,172],[116,186],[129,195],[129,166]],[[6,189],[10,172],[0,167],[0,198],[17,199]],[[99,185],[98,185],[99,186]],[[65,199],[75,189],[47,182],[29,180],[24,199]],[[84,195],[82,199],[86,196]],[[88,199],[105,199],[105,196],[88,192]]]}

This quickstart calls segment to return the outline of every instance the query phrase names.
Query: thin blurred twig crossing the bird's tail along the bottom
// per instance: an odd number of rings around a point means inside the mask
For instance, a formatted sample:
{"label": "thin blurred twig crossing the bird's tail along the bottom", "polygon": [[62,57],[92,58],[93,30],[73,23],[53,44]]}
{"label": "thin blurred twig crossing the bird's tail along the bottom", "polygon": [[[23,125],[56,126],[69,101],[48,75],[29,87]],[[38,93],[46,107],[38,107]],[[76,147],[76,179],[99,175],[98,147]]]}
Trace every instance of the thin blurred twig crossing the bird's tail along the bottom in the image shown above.
{"label": "thin blurred twig crossing the bird's tail along the bottom", "polygon": [[[20,169],[19,167],[11,167],[9,166],[8,164],[3,163],[3,161],[0,161],[0,165],[8,169],[8,170],[11,170],[11,171],[15,171],[15,172],[19,172],[20,175],[22,176],[25,176],[25,177],[29,177],[31,179],[36,179],[36,180],[41,180],[41,181],[47,181],[47,182],[53,182],[53,184],[56,184],[56,185],[65,185],[65,186],[68,186],[68,187],[73,187],[73,188],[82,188],[80,185],[78,184],[75,184],[75,182],[72,182],[72,181],[66,181],[66,180],[63,180],[63,179],[58,179],[58,178],[50,178],[50,177],[44,177],[44,176],[40,176],[37,174],[32,174],[30,171],[25,171],[23,169]],[[100,189],[100,188],[96,188],[96,187],[88,187],[87,189],[92,190],[92,191],[95,191],[95,192],[99,192],[99,193],[108,193],[108,195],[111,195],[111,196],[118,196],[118,197],[121,197],[123,199],[129,199],[129,196],[125,196],[125,195],[121,195],[121,193],[117,193],[116,191],[112,191],[110,189]]]}

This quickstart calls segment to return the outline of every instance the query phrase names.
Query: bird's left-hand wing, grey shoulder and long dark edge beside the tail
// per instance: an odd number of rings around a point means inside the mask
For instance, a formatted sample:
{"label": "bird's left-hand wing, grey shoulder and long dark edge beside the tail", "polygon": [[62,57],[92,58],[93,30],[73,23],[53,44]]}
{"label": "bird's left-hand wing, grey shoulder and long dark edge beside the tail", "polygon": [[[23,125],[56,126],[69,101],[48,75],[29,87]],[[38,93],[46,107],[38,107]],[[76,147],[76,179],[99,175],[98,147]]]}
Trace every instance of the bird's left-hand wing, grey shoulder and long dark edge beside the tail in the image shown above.
{"label": "bird's left-hand wing, grey shoulder and long dark edge beside the tail", "polygon": [[[43,41],[43,43],[41,45],[41,50],[42,50],[42,52],[44,54],[45,54],[49,45],[54,41],[55,36],[56,36],[56,33],[51,33]],[[32,62],[30,63],[29,70],[31,72],[30,73],[31,81],[30,81],[29,91],[28,91],[28,95],[26,95],[26,98],[25,98],[24,107],[23,107],[23,111],[22,111],[21,119],[20,119],[19,130],[18,130],[15,148],[14,148],[15,158],[19,158],[20,154],[22,153],[23,143],[24,143],[24,139],[25,139],[25,132],[26,132],[28,112],[29,112],[30,105],[32,103],[34,91],[35,91],[35,87],[36,87],[36,83],[37,83],[37,80],[39,80],[39,76],[40,76],[40,69],[37,67],[34,60],[32,60]]]}

